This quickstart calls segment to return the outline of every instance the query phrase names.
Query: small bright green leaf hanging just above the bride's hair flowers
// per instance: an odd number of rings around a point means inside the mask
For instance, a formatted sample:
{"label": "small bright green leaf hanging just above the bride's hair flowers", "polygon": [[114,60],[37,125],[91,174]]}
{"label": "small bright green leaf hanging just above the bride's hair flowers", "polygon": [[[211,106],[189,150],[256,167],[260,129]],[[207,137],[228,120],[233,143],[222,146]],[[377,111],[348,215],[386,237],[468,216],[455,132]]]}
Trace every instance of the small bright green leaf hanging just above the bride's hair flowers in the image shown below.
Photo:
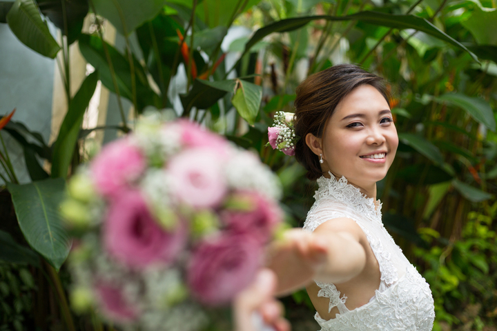
{"label": "small bright green leaf hanging just above the bride's hair flowers", "polygon": [[248,81],[238,81],[240,87],[231,99],[238,114],[251,126],[255,123],[255,117],[259,113],[260,103],[262,100],[262,87]]}

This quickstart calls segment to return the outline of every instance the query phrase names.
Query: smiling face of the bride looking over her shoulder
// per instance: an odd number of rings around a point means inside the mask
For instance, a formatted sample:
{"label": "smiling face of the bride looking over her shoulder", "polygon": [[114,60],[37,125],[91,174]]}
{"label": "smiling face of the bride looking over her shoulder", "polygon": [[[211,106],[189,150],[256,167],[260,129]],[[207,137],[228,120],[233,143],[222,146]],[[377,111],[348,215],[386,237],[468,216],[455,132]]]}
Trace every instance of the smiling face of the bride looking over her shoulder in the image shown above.
{"label": "smiling face of the bride looking over her shoulder", "polygon": [[367,188],[385,177],[397,146],[387,101],[365,84],[342,99],[328,120],[322,137],[323,170]]}

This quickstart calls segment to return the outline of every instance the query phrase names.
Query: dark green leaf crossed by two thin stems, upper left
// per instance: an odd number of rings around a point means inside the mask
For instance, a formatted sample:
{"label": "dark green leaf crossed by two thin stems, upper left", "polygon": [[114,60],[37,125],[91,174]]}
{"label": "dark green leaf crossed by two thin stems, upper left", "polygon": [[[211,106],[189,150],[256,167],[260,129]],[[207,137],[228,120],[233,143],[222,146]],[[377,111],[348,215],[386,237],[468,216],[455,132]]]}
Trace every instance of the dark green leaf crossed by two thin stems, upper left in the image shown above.
{"label": "dark green leaf crossed by two thin stems, upper left", "polygon": [[[116,92],[114,88],[112,74],[104,51],[104,45],[97,36],[81,34],[79,36],[79,50],[95,69],[99,71],[100,80],[109,90]],[[119,53],[113,46],[106,43],[106,48],[110,55],[110,61],[113,63],[117,88],[121,97],[133,101],[133,90],[131,86],[131,69],[128,58]],[[141,112],[146,106],[156,106],[160,108],[160,97],[153,92],[148,86],[146,74],[142,65],[133,57],[135,67],[135,83],[137,90],[138,112]]]}

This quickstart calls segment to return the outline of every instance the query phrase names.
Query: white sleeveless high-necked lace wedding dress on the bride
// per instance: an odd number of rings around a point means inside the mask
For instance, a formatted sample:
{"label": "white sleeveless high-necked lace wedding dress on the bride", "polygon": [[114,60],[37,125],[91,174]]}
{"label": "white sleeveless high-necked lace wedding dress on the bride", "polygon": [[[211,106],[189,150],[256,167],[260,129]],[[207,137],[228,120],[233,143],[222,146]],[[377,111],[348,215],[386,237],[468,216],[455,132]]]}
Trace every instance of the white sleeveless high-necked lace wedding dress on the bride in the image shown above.
{"label": "white sleeveless high-necked lace wedding dress on the bride", "polygon": [[435,312],[431,290],[418,270],[409,263],[382,223],[381,203],[365,197],[358,188],[339,181],[318,179],[315,203],[307,214],[304,229],[313,231],[324,221],[337,217],[353,219],[366,234],[369,245],[380,265],[380,288],[369,303],[349,310],[347,297],[331,283],[316,282],[321,290],[318,297],[327,297],[329,311],[337,307],[340,314],[326,321],[318,312],[315,320],[322,331],[382,330],[429,331],[433,328]]}

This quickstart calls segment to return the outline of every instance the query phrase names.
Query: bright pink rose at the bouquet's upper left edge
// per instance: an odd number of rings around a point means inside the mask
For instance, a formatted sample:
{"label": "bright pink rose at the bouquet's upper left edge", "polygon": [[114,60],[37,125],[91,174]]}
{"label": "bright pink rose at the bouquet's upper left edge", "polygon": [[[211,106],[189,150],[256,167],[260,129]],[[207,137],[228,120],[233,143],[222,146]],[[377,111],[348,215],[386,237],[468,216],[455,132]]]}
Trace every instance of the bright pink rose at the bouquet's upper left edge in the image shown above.
{"label": "bright pink rose at the bouquet's upper left edge", "polygon": [[97,191],[110,198],[138,179],[145,167],[142,152],[126,139],[104,146],[90,165]]}

